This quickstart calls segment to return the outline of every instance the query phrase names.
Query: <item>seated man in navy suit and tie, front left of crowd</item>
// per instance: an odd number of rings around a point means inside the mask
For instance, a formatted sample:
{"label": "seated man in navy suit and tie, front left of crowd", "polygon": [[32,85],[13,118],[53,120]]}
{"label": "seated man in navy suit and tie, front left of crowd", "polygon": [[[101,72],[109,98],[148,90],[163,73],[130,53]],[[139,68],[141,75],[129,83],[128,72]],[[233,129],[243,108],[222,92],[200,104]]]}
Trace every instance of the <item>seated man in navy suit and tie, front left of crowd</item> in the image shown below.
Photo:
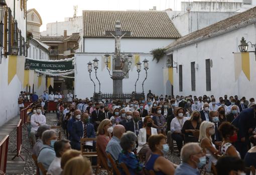
{"label": "seated man in navy suit and tie, front left of crowd", "polygon": [[82,113],[81,120],[76,121],[72,125],[72,141],[73,149],[80,150],[80,138],[95,138],[95,130],[93,124],[89,123],[89,115]]}

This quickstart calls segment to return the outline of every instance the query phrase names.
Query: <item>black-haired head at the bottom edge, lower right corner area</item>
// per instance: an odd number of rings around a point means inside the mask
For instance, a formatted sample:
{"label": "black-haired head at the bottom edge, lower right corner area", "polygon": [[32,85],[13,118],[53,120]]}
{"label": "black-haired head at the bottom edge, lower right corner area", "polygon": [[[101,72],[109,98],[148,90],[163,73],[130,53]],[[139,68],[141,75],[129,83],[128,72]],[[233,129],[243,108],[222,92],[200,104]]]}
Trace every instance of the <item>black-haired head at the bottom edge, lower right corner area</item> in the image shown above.
{"label": "black-haired head at the bottom edge, lower right corner area", "polygon": [[218,175],[236,175],[245,174],[243,160],[234,156],[222,156],[218,159],[216,165]]}

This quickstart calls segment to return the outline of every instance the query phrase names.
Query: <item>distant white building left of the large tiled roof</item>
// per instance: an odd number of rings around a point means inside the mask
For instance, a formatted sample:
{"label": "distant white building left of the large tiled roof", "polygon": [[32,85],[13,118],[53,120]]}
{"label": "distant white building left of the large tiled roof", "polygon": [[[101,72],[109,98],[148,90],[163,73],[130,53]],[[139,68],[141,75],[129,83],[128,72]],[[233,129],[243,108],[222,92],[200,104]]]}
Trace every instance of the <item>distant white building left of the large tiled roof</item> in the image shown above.
{"label": "distant white building left of the large tiled roof", "polygon": [[82,31],[82,16],[69,18],[69,21],[48,23],[46,31],[41,32],[41,36],[64,36],[64,30],[67,30],[67,36]]}

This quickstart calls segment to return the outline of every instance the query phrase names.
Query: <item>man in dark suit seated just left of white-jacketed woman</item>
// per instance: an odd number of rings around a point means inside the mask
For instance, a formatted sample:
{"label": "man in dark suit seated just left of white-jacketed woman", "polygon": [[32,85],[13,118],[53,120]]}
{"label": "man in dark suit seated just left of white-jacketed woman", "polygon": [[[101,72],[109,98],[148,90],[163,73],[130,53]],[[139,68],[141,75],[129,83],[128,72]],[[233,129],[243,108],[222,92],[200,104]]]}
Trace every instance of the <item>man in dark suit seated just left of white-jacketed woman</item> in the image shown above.
{"label": "man in dark suit seated just left of white-jacketed woman", "polygon": [[133,119],[126,123],[125,130],[132,131],[138,136],[141,128],[143,128],[143,121],[140,120],[140,113],[138,111],[134,111]]}

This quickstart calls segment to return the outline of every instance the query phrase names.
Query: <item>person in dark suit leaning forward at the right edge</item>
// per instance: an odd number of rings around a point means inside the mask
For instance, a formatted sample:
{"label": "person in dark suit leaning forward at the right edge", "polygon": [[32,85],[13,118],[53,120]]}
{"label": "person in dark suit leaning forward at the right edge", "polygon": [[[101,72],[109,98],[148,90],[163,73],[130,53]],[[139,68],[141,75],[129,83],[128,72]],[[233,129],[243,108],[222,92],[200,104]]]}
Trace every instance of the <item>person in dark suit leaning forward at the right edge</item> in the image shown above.
{"label": "person in dark suit leaning forward at the right edge", "polygon": [[241,158],[244,157],[248,150],[249,134],[251,134],[256,125],[255,113],[256,105],[253,105],[251,108],[242,110],[232,121],[232,124],[238,128],[237,141],[234,146],[240,152]]}

